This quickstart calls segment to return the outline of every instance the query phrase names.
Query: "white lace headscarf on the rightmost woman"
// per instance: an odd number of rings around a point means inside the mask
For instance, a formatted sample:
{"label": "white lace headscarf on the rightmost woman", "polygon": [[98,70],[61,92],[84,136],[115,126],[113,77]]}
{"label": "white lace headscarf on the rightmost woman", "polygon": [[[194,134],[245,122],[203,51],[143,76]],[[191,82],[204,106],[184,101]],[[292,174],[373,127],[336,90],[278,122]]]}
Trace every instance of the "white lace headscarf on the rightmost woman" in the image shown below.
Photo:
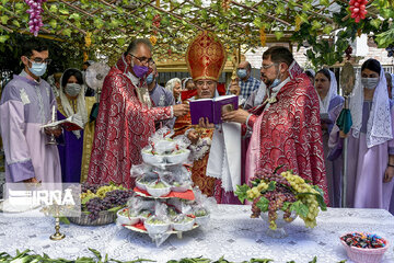
{"label": "white lace headscarf on the rightmost woman", "polygon": [[[359,138],[362,126],[362,106],[364,101],[361,73],[356,77],[355,90],[350,96],[350,114],[352,119],[352,136]],[[371,148],[393,139],[387,82],[381,67],[379,83],[373,93],[372,108],[367,124],[367,147]]]}

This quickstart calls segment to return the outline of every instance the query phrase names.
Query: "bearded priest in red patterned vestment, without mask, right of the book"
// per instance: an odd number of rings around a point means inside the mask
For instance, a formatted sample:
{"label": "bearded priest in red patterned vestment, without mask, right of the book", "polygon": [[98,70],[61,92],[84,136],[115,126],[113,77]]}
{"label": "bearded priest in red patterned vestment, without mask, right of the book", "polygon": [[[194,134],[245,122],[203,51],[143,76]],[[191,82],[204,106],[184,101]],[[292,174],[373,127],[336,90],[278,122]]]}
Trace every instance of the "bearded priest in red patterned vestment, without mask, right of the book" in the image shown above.
{"label": "bearded priest in red patterned vestment, without mask, right of the book", "polygon": [[223,119],[244,124],[252,130],[246,153],[246,178],[256,171],[292,169],[324,191],[328,202],[324,167],[318,96],[292,54],[274,46],[263,54],[262,79],[268,94],[248,112],[237,110]]}

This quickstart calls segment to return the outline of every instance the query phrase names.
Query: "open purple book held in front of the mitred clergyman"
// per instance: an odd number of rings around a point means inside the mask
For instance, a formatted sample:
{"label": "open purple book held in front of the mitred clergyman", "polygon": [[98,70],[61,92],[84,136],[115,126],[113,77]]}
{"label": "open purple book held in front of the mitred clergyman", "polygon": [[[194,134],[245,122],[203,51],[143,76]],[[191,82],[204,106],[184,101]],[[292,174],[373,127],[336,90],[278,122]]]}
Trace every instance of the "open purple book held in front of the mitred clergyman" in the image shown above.
{"label": "open purple book held in front of the mitred clergyman", "polygon": [[209,123],[220,124],[223,113],[237,110],[239,98],[236,95],[223,95],[213,99],[190,100],[189,105],[193,125],[198,124],[201,117],[207,117]]}

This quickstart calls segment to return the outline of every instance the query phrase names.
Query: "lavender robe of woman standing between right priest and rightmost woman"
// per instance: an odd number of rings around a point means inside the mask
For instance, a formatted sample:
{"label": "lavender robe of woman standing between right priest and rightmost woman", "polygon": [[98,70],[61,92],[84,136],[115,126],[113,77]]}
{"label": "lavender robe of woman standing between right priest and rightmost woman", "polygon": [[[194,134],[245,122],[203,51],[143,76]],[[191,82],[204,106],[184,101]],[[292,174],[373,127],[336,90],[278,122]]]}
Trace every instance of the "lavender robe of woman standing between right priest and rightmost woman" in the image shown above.
{"label": "lavender robe of woman standing between right priest and rightmost woman", "polygon": [[334,161],[328,160],[328,139],[329,133],[333,129],[337,117],[339,116],[344,101],[344,98],[340,95],[336,95],[329,101],[328,117],[331,122],[327,123],[328,130],[323,130],[324,160],[326,168],[329,205],[332,207],[339,207],[340,205],[340,193],[338,192],[338,190],[340,190],[340,169],[343,165],[343,161],[340,158]]}

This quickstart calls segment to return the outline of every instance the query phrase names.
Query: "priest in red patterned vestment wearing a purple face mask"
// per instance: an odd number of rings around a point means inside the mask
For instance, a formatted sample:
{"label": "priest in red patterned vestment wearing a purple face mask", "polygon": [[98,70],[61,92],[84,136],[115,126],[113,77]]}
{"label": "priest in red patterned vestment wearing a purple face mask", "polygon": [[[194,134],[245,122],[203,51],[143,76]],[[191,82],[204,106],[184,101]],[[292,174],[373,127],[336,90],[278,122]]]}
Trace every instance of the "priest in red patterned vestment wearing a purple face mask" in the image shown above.
{"label": "priest in red patterned vestment wearing a purple face mask", "polygon": [[137,38],[105,77],[88,182],[123,184],[130,188],[132,164],[142,162],[141,149],[154,133],[154,122],[182,116],[188,105],[150,107],[146,77],[151,70],[152,46]]}

